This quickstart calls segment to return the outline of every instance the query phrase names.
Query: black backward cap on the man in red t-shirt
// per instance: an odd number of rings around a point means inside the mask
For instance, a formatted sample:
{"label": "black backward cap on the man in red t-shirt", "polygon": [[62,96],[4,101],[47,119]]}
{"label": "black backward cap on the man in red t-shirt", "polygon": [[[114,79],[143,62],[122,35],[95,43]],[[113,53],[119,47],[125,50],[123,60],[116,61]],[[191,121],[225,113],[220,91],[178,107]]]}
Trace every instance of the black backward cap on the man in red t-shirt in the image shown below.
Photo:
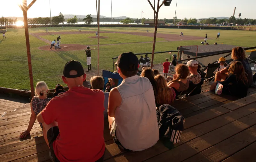
{"label": "black backward cap on the man in red t-shirt", "polygon": [[[69,75],[69,72],[71,70],[75,70],[77,72],[77,74],[76,75]],[[82,64],[79,61],[74,61],[74,60],[68,61],[64,66],[63,75],[66,78],[77,78],[79,76],[84,75],[84,68],[83,68]]]}

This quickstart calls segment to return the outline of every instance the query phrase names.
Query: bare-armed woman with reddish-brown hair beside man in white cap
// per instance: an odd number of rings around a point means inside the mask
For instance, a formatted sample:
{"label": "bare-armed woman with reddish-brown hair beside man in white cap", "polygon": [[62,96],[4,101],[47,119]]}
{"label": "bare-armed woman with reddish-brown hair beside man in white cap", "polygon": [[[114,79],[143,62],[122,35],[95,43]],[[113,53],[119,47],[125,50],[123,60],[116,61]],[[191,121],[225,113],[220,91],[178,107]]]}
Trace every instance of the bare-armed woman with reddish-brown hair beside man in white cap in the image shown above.
{"label": "bare-armed woman with reddish-brown hair beside man in white cap", "polygon": [[177,92],[182,92],[188,89],[189,81],[187,76],[189,74],[188,67],[184,64],[178,64],[175,67],[176,74],[173,74],[173,81],[167,83],[168,87],[175,88]]}

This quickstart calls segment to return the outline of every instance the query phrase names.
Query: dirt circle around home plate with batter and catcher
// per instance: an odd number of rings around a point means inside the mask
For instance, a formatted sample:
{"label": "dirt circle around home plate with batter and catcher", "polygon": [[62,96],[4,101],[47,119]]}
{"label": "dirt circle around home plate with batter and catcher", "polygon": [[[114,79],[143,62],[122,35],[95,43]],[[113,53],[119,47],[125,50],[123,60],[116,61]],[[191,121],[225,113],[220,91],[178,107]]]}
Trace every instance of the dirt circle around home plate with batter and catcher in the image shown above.
{"label": "dirt circle around home plate with batter and catcher", "polygon": [[54,46],[47,45],[47,46],[41,46],[38,47],[40,50],[44,51],[79,51],[79,50],[85,50],[87,46],[85,45],[78,45],[78,44],[60,44],[61,49],[54,49]]}

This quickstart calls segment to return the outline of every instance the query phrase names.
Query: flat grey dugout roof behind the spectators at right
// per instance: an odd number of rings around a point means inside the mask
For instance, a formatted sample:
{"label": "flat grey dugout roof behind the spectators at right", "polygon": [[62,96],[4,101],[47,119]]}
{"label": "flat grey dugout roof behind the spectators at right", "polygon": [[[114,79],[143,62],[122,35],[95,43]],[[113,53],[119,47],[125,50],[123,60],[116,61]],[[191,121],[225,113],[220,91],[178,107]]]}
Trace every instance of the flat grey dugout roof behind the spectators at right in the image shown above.
{"label": "flat grey dugout roof behind the spectators at right", "polygon": [[[222,45],[222,44],[200,45],[200,46],[198,46],[197,56],[205,56],[205,55],[221,53],[221,52],[225,52],[225,51],[227,51],[227,53],[228,53],[234,47],[236,47],[236,46]],[[177,50],[179,50],[179,47],[177,47]],[[188,55],[192,55],[192,56],[196,56],[196,50],[197,50],[196,46],[184,46],[184,47],[181,46],[180,47],[180,51],[183,51],[184,54],[188,54]]]}

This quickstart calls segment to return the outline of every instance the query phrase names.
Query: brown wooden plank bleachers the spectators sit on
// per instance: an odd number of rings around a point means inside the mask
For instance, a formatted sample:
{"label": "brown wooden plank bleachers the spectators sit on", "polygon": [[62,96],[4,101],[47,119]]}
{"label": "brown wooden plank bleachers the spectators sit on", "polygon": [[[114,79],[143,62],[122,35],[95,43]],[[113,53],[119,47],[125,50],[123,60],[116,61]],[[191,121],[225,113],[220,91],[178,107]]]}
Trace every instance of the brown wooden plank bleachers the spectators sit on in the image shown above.
{"label": "brown wooden plank bleachers the spectators sit on", "polygon": [[[204,84],[202,89],[209,88]],[[185,117],[185,130],[180,143],[172,150],[161,141],[138,152],[120,150],[104,122],[106,162],[140,161],[223,161],[255,162],[256,155],[256,88],[249,88],[247,97],[236,99],[205,92],[175,101],[173,106]],[[49,161],[40,125],[34,124],[30,137],[20,140],[30,118],[29,104],[0,118],[0,161]]]}

